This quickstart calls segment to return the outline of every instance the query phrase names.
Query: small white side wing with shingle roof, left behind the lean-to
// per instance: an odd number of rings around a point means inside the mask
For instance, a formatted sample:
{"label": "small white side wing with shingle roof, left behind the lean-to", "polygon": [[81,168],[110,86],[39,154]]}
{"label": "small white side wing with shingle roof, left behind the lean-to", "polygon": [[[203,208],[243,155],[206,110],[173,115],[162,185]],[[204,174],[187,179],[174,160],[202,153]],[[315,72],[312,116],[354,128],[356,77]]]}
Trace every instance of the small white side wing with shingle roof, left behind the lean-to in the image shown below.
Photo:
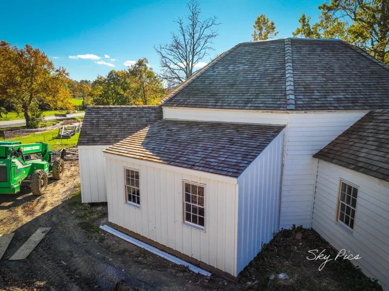
{"label": "small white side wing with shingle roof, left behind the lean-to", "polygon": [[78,138],[83,203],[106,202],[103,150],[162,119],[158,106],[88,106]]}

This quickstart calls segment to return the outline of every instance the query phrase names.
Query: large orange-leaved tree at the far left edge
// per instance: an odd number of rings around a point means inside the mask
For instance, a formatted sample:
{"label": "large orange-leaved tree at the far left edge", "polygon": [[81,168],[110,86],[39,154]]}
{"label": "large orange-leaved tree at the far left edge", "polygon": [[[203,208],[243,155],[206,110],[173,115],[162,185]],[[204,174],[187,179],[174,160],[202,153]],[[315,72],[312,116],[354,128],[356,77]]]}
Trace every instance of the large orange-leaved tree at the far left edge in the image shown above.
{"label": "large orange-leaved tree at the far left edge", "polygon": [[19,50],[5,41],[0,42],[0,99],[24,114],[27,127],[39,123],[41,104],[73,108],[66,88],[68,83],[65,68],[55,68],[44,52],[30,45]]}

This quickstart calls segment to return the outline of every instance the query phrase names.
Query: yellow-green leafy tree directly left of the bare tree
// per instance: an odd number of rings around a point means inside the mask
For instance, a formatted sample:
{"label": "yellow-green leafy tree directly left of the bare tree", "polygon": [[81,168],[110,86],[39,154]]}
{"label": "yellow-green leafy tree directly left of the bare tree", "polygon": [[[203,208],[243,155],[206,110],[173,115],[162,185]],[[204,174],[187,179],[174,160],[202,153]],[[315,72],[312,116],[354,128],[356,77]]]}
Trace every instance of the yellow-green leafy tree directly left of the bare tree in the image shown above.
{"label": "yellow-green leafy tree directly left of the bare tree", "polygon": [[147,59],[142,58],[128,68],[131,77],[131,98],[140,105],[158,104],[165,94],[161,80],[147,64]]}

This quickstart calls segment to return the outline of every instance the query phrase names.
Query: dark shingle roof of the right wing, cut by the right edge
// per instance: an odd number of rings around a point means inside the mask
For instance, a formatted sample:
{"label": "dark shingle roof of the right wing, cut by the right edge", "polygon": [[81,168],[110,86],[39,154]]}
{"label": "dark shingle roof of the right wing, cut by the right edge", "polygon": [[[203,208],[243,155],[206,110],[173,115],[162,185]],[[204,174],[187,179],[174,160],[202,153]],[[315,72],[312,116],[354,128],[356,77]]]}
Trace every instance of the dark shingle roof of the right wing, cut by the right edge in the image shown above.
{"label": "dark shingle roof of the right wing, cut by the right edge", "polygon": [[389,110],[366,114],[314,157],[389,181]]}

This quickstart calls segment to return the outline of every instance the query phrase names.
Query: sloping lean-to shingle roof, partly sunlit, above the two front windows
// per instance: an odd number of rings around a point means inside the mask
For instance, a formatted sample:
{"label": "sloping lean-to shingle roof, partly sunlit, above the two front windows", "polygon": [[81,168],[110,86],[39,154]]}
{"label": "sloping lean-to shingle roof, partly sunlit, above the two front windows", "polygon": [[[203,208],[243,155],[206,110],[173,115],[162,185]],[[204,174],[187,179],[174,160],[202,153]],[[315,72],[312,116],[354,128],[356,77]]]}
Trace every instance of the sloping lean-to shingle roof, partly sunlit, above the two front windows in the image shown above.
{"label": "sloping lean-to shingle roof, partly sunlit, above the two front windows", "polygon": [[104,152],[238,177],[284,126],[159,120]]}

